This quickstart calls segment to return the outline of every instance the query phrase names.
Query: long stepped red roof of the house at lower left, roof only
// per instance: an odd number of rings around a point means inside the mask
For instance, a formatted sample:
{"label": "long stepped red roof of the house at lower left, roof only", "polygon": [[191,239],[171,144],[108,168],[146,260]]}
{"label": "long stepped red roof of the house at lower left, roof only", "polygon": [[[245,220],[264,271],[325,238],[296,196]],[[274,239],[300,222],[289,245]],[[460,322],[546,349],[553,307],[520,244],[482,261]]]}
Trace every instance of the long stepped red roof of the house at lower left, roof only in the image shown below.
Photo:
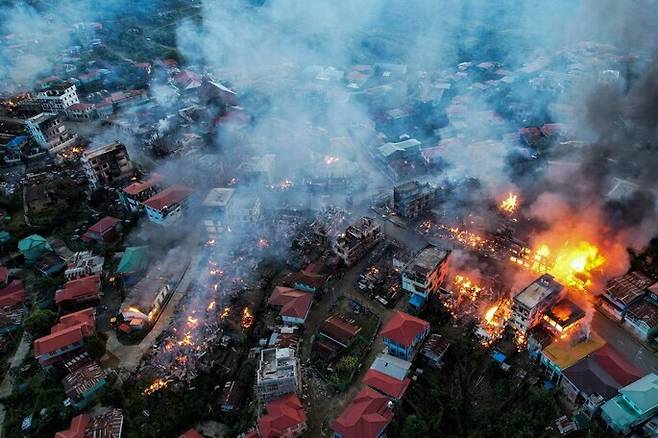
{"label": "long stepped red roof of the house at lower left, roof only", "polygon": [[34,341],[36,356],[57,351],[94,333],[94,309],[91,307],[64,315],[50,329],[50,334]]}

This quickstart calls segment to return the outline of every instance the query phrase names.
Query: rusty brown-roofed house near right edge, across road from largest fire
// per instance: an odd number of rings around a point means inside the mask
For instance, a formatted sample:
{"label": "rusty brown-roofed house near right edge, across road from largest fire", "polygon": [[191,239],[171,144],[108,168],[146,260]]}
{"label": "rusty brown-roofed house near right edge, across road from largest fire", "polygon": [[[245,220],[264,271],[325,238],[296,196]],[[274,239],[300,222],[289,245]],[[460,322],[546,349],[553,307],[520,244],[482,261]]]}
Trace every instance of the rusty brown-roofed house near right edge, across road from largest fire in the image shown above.
{"label": "rusty brown-roofed house near right edge, across road from largest fire", "polygon": [[609,280],[601,294],[601,308],[618,321],[623,321],[628,306],[647,293],[653,280],[634,271]]}

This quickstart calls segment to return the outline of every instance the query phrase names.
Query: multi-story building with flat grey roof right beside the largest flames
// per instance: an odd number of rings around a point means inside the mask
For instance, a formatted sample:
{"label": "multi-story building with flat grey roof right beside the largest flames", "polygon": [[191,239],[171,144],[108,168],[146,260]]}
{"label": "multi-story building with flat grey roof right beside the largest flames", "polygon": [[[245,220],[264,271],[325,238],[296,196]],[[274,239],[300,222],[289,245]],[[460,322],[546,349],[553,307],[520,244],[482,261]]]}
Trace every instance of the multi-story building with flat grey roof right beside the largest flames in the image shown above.
{"label": "multi-story building with flat grey roof right beside the largest flames", "polygon": [[564,286],[549,274],[533,281],[512,300],[511,326],[526,333],[541,321],[544,311],[557,302],[563,289]]}

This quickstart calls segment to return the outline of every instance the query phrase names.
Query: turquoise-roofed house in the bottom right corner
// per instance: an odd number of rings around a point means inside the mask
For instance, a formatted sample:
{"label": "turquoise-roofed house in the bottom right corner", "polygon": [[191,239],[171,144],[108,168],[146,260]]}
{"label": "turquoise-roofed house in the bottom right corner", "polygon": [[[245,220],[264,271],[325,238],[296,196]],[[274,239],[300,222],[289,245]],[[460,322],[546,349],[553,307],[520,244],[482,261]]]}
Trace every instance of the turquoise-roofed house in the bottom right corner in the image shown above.
{"label": "turquoise-roofed house in the bottom right corner", "polygon": [[658,375],[647,374],[619,390],[601,407],[601,418],[617,433],[628,434],[633,427],[658,412]]}

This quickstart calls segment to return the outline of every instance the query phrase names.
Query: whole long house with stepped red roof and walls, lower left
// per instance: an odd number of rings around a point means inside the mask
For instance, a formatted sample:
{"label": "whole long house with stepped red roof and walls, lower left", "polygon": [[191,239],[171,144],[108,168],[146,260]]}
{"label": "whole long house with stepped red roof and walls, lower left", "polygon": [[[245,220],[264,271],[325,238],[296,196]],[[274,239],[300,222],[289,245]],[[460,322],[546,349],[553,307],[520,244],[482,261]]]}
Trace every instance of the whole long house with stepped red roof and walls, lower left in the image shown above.
{"label": "whole long house with stepped red roof and walls, lower left", "polygon": [[50,334],[34,341],[34,357],[49,367],[82,348],[82,339],[95,332],[94,309],[87,308],[59,318]]}

